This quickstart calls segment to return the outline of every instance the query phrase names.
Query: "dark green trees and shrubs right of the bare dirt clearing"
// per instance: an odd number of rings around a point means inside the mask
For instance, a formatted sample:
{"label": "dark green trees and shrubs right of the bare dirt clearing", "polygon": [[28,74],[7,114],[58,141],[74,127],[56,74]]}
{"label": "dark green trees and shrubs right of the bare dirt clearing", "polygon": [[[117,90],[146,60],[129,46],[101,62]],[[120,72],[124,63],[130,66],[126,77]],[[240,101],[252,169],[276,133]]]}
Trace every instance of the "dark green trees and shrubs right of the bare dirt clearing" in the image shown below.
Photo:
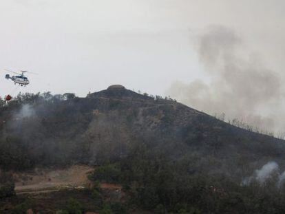
{"label": "dark green trees and shrubs right of the bare dirt clearing", "polygon": [[[173,162],[143,147],[134,149],[117,164],[121,166],[122,181],[129,186],[129,206],[156,213],[285,212],[284,189],[279,189],[273,180],[244,186],[220,173],[189,173],[185,169],[189,164],[189,160]],[[108,169],[109,164],[105,167]],[[94,171],[98,177],[101,173],[106,176],[102,170]],[[103,213],[109,209],[103,206]]]}

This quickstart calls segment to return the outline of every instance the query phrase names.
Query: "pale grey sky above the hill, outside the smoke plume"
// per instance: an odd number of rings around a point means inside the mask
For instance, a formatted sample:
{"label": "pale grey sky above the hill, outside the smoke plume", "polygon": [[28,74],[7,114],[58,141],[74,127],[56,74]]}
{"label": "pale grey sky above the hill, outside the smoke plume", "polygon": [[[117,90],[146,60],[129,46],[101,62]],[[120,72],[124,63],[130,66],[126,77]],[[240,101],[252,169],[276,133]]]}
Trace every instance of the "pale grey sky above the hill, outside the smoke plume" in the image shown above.
{"label": "pale grey sky above the hill, outside the smoke plume", "polygon": [[[23,92],[122,84],[163,95],[176,81],[209,81],[197,36],[223,25],[284,78],[284,10],[283,0],[1,0],[0,68],[39,73]],[[0,81],[0,94],[14,95]]]}

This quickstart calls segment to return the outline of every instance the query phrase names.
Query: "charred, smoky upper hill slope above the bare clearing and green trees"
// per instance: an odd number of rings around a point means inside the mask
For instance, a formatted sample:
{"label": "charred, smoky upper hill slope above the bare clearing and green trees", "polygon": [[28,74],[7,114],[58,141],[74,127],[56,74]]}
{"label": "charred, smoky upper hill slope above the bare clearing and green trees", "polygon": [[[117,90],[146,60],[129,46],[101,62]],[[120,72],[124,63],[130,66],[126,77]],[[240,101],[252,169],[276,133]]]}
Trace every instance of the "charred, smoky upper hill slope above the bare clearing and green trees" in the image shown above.
{"label": "charred, smoky upper hill slope above the bare clearing and green trees", "polygon": [[[96,165],[125,156],[134,142],[165,151],[173,160],[184,155],[217,158],[223,162],[219,170],[230,170],[232,164],[257,168],[268,160],[284,165],[282,140],[233,127],[173,100],[155,100],[123,87],[109,87],[86,98],[23,95],[21,100],[1,108],[2,168]],[[20,153],[25,154],[21,165],[17,162]],[[204,164],[213,167],[211,171],[215,169],[211,163]]]}

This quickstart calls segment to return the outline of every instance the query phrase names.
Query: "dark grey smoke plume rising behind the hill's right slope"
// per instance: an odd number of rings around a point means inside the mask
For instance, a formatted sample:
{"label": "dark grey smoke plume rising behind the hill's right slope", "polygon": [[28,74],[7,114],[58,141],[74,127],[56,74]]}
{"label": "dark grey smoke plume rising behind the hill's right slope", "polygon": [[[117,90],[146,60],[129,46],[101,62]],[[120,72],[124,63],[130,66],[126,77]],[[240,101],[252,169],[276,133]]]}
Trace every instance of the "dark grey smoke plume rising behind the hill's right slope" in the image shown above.
{"label": "dark grey smoke plume rising behind the hill's right slope", "polygon": [[169,94],[196,109],[226,118],[238,118],[250,125],[276,131],[276,110],[281,109],[279,75],[268,69],[257,54],[246,51],[240,36],[223,26],[211,26],[198,39],[200,62],[209,83],[176,82]]}

